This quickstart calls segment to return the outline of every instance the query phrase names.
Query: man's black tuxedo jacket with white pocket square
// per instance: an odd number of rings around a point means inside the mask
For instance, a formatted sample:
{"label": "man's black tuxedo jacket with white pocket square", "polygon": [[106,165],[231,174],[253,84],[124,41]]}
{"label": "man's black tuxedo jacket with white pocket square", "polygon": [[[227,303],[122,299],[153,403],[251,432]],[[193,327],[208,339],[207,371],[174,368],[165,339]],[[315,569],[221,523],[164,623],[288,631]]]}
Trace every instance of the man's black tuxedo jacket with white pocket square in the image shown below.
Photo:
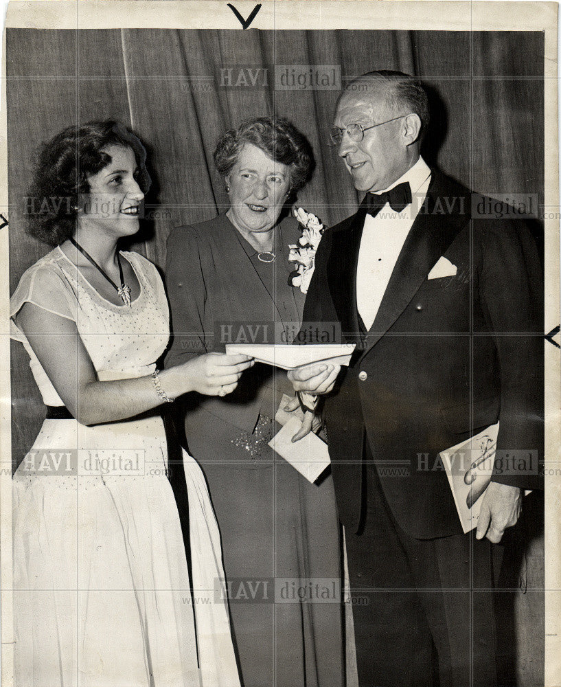
{"label": "man's black tuxedo jacket with white pocket square", "polygon": [[[433,170],[367,333],[356,306],[365,210],[328,229],[319,245],[301,333],[312,332],[313,323],[336,322],[342,341],[357,343],[325,399],[339,515],[353,530],[365,441],[393,516],[419,539],[461,532],[437,455],[497,420],[503,460],[492,479],[541,484],[541,263],[525,221],[478,215],[481,200]],[[457,272],[428,279],[442,256]],[[510,464],[512,451],[525,463]]]}

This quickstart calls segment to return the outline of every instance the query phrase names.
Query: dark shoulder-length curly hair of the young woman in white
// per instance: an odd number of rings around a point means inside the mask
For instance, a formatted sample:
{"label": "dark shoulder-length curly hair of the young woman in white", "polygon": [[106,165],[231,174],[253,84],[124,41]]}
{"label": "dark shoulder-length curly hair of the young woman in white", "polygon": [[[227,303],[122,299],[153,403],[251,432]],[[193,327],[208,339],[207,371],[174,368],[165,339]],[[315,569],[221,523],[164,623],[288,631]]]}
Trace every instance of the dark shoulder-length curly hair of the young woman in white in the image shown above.
{"label": "dark shoulder-length curly hair of the young woman in white", "polygon": [[36,168],[25,199],[27,232],[49,245],[59,245],[76,230],[79,198],[90,191],[88,177],[111,163],[107,146],[132,148],[137,182],[150,188],[146,150],[124,124],[113,120],[68,126],[38,150]]}

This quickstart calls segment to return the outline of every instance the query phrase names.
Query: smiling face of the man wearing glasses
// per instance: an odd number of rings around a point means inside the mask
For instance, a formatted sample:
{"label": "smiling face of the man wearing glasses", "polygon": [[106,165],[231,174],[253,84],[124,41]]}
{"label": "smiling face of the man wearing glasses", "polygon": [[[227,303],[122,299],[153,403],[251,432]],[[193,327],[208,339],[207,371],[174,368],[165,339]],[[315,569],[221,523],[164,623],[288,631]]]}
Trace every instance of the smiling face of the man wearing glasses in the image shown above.
{"label": "smiling face of the man wearing glasses", "polygon": [[[344,129],[349,124],[362,124],[366,128],[400,114],[407,114],[407,110],[392,109],[382,89],[364,94],[345,93],[339,101],[334,125]],[[402,118],[365,131],[359,142],[343,133],[338,153],[357,190],[383,190],[407,172],[416,151],[408,146],[406,128]]]}

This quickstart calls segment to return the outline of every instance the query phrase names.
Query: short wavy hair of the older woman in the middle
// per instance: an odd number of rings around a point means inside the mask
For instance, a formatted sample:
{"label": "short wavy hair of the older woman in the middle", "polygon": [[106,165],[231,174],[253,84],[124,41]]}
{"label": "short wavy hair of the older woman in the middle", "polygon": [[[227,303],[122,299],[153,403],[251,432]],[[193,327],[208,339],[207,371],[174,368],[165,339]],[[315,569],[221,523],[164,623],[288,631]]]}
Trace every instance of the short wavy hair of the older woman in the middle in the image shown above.
{"label": "short wavy hair of the older woman in the middle", "polygon": [[214,164],[222,179],[230,174],[246,143],[290,168],[290,192],[300,190],[310,180],[315,166],[312,146],[294,124],[282,117],[255,117],[220,136]]}

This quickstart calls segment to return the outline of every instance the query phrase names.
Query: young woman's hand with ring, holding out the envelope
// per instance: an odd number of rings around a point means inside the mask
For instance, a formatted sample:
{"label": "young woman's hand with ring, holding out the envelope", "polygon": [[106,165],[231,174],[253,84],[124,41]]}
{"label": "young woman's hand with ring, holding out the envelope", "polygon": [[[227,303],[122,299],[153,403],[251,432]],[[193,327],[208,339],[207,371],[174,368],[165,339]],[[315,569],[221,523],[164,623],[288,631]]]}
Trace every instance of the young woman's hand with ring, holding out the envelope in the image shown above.
{"label": "young woman's hand with ring, holding out the envelope", "polygon": [[187,391],[197,391],[206,396],[226,396],[238,386],[242,372],[253,367],[254,363],[253,358],[242,353],[205,353],[175,369],[185,372]]}

